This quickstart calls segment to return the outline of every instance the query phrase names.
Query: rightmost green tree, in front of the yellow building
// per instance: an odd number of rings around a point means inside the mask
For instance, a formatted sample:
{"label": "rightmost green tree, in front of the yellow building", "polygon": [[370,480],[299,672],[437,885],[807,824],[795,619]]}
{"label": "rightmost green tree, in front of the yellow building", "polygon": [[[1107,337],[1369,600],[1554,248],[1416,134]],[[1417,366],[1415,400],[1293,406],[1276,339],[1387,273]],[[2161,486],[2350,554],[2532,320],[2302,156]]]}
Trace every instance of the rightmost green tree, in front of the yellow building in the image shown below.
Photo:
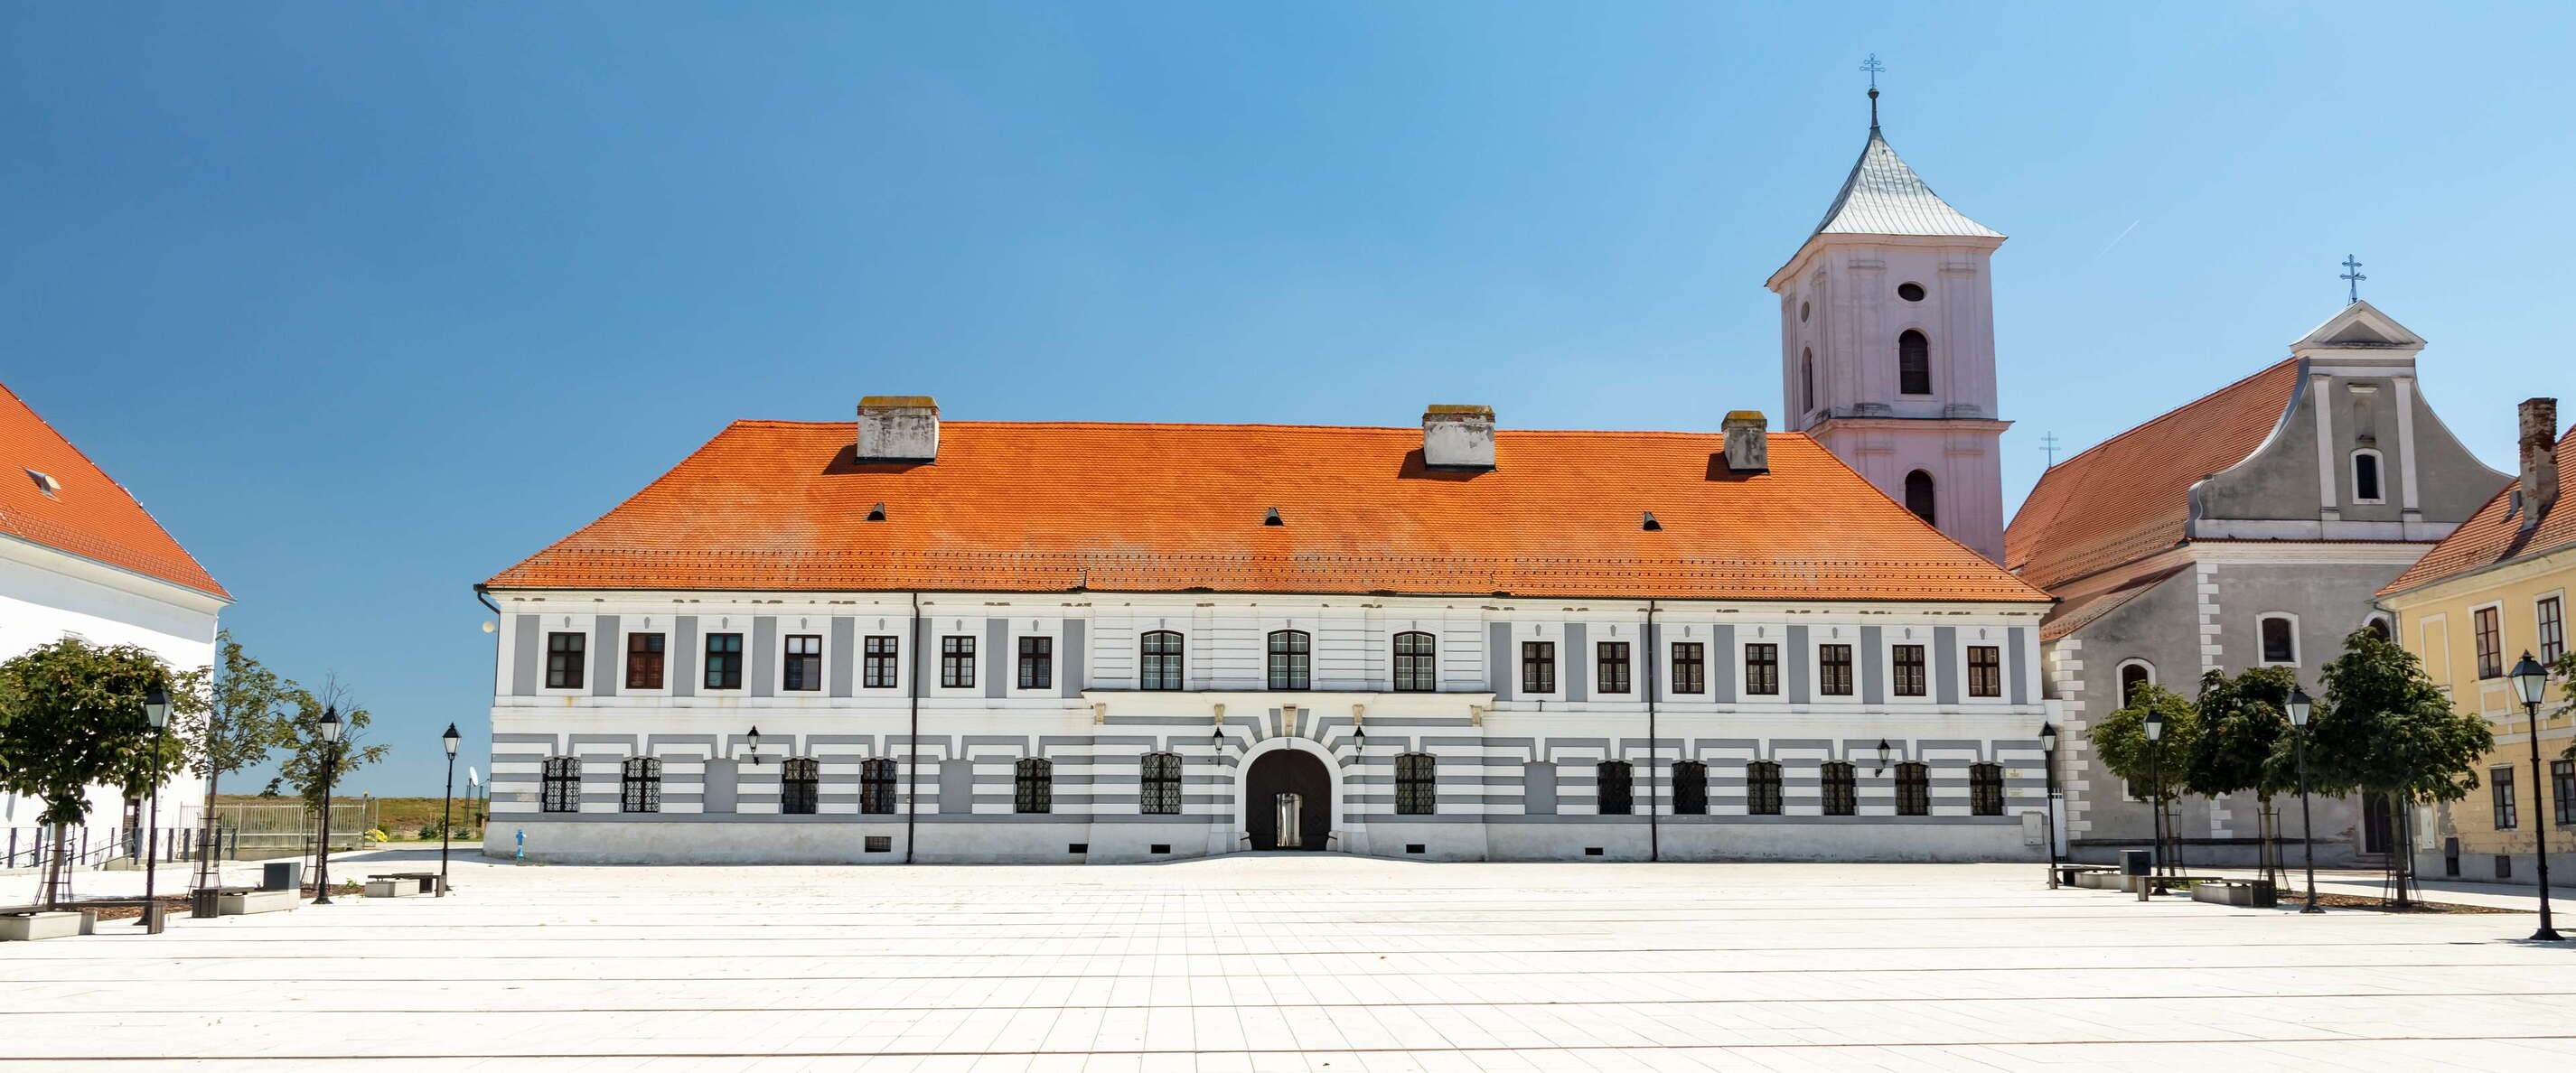
{"label": "rightmost green tree, in front of the yellow building", "polygon": [[2378,633],[2352,630],[2324,672],[2308,720],[2308,777],[2329,793],[2378,793],[2398,816],[2388,854],[2398,906],[2414,901],[2414,805],[2460,800],[2478,787],[2478,762],[2496,746],[2483,715],[2452,708],[2424,661]]}

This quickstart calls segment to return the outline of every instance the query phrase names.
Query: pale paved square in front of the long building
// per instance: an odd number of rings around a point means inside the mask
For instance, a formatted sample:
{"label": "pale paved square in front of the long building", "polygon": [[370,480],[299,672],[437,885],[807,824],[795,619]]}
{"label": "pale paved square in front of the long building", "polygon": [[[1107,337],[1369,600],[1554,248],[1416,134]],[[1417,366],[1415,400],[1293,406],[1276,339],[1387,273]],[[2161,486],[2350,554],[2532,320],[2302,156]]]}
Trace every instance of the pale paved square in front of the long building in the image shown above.
{"label": "pale paved square in front of the long building", "polygon": [[[345,862],[340,875],[392,870]],[[417,867],[402,859],[399,867]],[[28,1068],[1589,1070],[2576,1063],[2530,916],[2025,865],[507,867],[0,947]],[[100,1063],[82,1063],[82,1060]],[[8,1063],[0,1063],[8,1065]]]}

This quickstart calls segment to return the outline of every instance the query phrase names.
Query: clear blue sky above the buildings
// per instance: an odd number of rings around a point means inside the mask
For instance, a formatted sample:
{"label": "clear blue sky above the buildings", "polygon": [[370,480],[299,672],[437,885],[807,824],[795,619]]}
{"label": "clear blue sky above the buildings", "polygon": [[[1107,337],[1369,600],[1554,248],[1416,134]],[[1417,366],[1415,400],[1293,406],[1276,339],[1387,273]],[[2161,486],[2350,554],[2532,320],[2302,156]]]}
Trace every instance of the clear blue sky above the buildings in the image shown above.
{"label": "clear blue sky above the buildings", "polygon": [[[2007,502],[2365,296],[2576,396],[2563,5],[8,5],[0,378],[482,764],[469,587],[734,417],[1713,430],[1865,134],[1996,255]],[[242,782],[263,782],[258,780]]]}

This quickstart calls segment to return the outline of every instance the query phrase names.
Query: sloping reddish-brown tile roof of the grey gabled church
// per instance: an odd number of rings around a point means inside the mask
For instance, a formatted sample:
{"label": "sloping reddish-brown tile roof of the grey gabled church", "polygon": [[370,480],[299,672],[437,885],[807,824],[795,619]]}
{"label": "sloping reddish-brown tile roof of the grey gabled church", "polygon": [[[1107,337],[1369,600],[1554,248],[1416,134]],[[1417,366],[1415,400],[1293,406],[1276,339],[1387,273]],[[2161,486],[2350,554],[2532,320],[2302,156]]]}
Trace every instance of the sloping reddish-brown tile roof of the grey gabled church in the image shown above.
{"label": "sloping reddish-brown tile roof of the grey gabled church", "polygon": [[2290,409],[2298,358],[2050,466],[2004,527],[2004,566],[2056,589],[2182,543],[2192,484],[2246,461]]}

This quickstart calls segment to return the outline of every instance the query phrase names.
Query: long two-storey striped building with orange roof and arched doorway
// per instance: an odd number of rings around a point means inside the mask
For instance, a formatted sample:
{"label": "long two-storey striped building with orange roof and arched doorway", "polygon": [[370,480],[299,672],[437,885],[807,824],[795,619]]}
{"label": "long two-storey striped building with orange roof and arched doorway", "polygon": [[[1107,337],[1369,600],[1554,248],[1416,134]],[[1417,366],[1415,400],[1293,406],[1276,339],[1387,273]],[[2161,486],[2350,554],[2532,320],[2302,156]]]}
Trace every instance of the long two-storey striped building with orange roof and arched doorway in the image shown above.
{"label": "long two-storey striped building with orange roof and arched doorway", "polygon": [[1806,435],[734,422],[482,587],[572,862],[2038,859],[2048,597]]}

